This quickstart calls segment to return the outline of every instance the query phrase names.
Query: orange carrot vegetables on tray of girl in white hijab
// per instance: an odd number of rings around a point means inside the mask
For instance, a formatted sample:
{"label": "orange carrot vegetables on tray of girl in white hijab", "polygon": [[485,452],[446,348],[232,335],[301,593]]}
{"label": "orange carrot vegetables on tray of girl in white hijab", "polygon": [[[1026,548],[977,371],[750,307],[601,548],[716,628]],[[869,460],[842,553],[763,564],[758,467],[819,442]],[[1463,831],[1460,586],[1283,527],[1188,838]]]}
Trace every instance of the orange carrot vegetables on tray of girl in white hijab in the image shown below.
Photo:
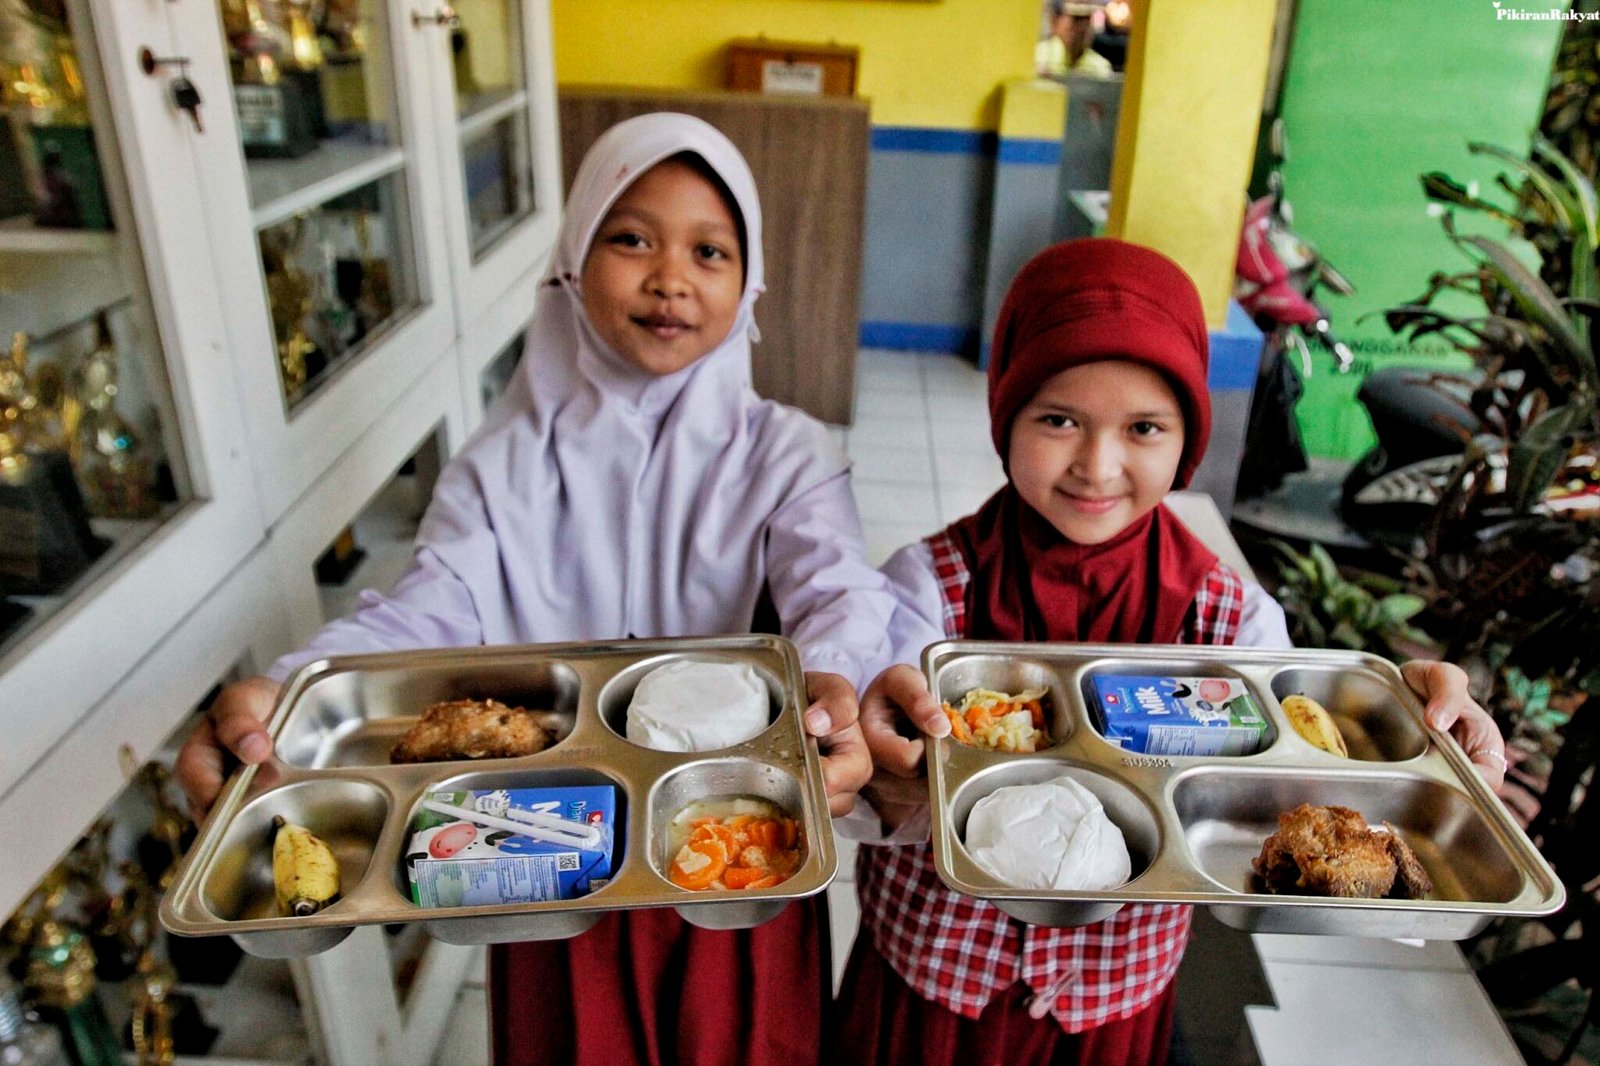
{"label": "orange carrot vegetables on tray of girl in white hijab", "polygon": [[800,868],[802,829],[795,818],[707,815],[683,824],[688,839],[667,871],[678,888],[771,888]]}

